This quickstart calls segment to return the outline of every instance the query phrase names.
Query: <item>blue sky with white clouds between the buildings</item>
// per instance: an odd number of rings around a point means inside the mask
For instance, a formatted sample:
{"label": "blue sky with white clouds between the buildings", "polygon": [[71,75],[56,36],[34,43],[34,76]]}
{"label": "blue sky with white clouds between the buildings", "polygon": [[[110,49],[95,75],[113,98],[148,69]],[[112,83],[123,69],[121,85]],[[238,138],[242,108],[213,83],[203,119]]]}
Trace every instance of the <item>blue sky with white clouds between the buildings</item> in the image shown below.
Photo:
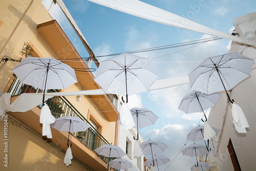
{"label": "blue sky with white clouds between the buildings", "polygon": [[[63,2],[96,56],[212,37],[155,23],[85,0],[63,0]],[[229,34],[234,29],[234,17],[244,16],[247,13],[255,12],[256,9],[256,2],[254,0],[144,0],[142,2]],[[48,0],[44,0],[42,3],[49,7]],[[57,6],[54,7],[54,12],[51,15],[54,19],[57,19],[57,22],[68,35],[79,54],[82,57],[88,57],[88,53]],[[159,75],[157,80],[161,80],[187,76],[205,58],[228,53],[230,44],[230,40],[221,39],[197,46],[193,45],[194,47],[184,46],[136,53],[134,55],[151,59],[158,57],[152,59],[152,62],[156,73]],[[99,57],[98,60],[102,61],[108,58]],[[96,72],[93,74],[95,75]],[[196,163],[195,157],[183,156],[182,153],[179,153],[187,142],[188,132],[198,124],[203,125],[200,122],[203,116],[202,113],[185,114],[178,110],[182,97],[189,92],[191,90],[189,85],[186,84],[174,88],[142,92],[129,97],[130,108],[147,108],[159,117],[155,125],[144,127],[139,132],[145,141],[148,139],[159,140],[168,146],[161,155],[166,156],[173,162],[172,164],[169,162],[164,166],[159,166],[160,170],[190,170],[191,165]],[[210,109],[206,113],[209,113],[209,111]],[[193,143],[188,141],[185,147]]]}

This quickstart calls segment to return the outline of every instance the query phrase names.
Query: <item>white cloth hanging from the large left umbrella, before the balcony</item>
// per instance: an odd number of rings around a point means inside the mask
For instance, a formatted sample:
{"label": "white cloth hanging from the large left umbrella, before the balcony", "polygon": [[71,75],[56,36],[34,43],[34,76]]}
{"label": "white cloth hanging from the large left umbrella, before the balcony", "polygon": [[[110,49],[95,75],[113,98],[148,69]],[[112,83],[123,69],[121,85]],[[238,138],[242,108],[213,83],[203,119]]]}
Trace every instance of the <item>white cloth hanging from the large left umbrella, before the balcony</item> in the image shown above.
{"label": "white cloth hanging from the large left umbrella, before the balcony", "polygon": [[51,126],[50,124],[55,122],[55,118],[52,116],[49,106],[44,103],[40,113],[40,123],[42,123],[42,136],[47,136],[47,138],[52,138]]}

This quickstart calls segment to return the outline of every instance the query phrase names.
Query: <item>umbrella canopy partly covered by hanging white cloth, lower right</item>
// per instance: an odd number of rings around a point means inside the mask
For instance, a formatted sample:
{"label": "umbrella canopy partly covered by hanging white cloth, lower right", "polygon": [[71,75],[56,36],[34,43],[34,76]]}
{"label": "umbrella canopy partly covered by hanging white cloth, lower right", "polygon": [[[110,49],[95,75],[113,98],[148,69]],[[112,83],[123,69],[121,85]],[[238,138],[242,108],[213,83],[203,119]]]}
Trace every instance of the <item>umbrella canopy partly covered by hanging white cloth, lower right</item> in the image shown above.
{"label": "umbrella canopy partly covered by hanging white cloth, lower right", "polygon": [[[219,129],[216,127],[211,127],[212,130],[216,133],[216,135],[219,133]],[[194,129],[192,129],[188,135],[187,135],[187,140],[191,141],[201,141],[204,140],[204,126],[198,126]]]}

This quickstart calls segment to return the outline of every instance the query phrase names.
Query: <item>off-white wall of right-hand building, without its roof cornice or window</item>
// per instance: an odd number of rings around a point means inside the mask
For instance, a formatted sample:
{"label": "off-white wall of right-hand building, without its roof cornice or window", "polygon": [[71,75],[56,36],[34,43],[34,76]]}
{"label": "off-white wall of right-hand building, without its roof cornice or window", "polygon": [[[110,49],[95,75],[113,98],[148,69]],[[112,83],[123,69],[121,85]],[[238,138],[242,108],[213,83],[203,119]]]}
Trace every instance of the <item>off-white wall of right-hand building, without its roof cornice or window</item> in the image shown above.
{"label": "off-white wall of right-hand building, without its roof cornice or window", "polygon": [[[256,22],[256,21],[255,21]],[[255,28],[254,28],[255,29]],[[236,31],[240,31],[237,27]],[[239,32],[240,36],[243,36]],[[232,42],[230,52],[241,53],[250,58],[255,58],[256,49],[246,46],[240,46],[236,42]],[[233,76],[234,79],[236,75]],[[218,169],[219,170],[233,170],[232,161],[227,149],[229,139],[231,139],[234,151],[236,152],[239,164],[242,170],[254,170],[256,167],[256,70],[255,62],[252,67],[251,76],[248,79],[245,79],[234,87],[231,91],[231,99],[234,99],[236,104],[238,104],[243,110],[246,119],[249,124],[249,128],[246,129],[247,133],[238,133],[234,128],[232,123],[232,114],[231,114],[231,104],[227,103],[227,97],[222,93],[222,97],[218,101],[217,105],[211,108],[209,115],[208,123],[213,126],[221,129],[222,124],[224,123],[223,134],[220,141],[220,148],[218,152]],[[226,120],[223,122],[224,116],[226,115]],[[214,142],[215,151],[217,150],[219,136],[217,137],[216,142]],[[215,152],[216,153],[216,152]]]}

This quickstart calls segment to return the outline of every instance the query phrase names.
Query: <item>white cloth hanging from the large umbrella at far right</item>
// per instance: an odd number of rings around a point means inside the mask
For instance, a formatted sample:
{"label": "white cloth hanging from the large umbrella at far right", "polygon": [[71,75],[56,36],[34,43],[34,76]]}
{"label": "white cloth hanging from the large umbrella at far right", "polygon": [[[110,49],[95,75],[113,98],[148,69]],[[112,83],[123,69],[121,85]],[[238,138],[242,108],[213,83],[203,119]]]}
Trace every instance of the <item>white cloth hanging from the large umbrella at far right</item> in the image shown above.
{"label": "white cloth hanging from the large umbrella at far right", "polygon": [[245,128],[250,127],[247,119],[244,115],[244,112],[240,108],[239,105],[233,103],[231,109],[234,127],[236,127],[237,132],[239,133],[247,133]]}

